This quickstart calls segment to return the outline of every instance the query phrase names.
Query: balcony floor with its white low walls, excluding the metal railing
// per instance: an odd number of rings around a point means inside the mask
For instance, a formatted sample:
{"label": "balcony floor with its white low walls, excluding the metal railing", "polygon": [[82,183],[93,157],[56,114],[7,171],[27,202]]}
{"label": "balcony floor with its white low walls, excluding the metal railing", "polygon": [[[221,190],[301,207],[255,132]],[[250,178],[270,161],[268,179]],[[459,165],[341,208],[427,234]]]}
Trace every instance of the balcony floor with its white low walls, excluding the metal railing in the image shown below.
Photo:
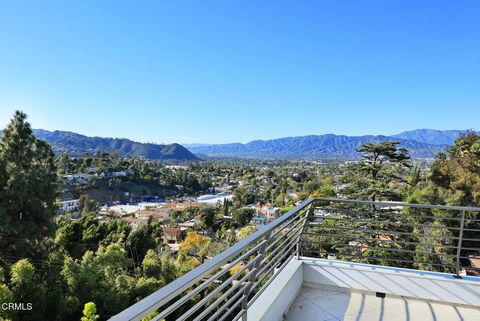
{"label": "balcony floor with its white low walls, excluding the metal railing", "polygon": [[479,321],[480,280],[301,257],[247,315],[254,321]]}

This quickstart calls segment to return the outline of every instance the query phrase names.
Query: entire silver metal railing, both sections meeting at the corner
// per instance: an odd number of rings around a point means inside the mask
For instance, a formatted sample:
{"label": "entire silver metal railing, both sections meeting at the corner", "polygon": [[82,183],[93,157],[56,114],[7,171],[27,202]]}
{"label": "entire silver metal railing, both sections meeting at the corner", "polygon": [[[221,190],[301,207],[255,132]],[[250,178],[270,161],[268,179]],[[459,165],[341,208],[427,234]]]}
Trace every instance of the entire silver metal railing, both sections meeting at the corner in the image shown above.
{"label": "entire silver metal railing, both sections meeting at the corner", "polygon": [[294,257],[453,273],[480,252],[480,208],[310,199],[110,320],[247,320]]}

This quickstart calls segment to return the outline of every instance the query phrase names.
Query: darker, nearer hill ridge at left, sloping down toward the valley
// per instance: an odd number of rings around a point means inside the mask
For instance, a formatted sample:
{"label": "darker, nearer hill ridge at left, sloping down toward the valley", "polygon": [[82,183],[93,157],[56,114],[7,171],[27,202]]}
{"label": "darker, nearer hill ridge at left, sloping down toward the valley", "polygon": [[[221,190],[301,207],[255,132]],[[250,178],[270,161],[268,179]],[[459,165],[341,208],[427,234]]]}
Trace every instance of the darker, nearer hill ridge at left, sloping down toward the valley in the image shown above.
{"label": "darker, nearer hill ridge at left, sloping down toward the valley", "polygon": [[[97,151],[151,160],[196,161],[199,158],[180,144],[138,143],[125,138],[88,137],[68,131],[34,129],[38,139],[52,145],[55,154],[80,156]],[[0,131],[1,135],[1,131]]]}

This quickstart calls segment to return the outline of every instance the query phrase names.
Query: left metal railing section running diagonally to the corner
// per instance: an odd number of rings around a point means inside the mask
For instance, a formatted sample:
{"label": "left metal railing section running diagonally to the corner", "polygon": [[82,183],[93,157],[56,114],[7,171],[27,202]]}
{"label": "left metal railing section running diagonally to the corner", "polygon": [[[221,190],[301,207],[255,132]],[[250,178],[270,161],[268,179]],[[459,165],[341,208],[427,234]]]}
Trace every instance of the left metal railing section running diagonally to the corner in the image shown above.
{"label": "left metal railing section running diagonally to the corner", "polygon": [[250,304],[295,254],[314,200],[302,202],[110,320],[246,320]]}

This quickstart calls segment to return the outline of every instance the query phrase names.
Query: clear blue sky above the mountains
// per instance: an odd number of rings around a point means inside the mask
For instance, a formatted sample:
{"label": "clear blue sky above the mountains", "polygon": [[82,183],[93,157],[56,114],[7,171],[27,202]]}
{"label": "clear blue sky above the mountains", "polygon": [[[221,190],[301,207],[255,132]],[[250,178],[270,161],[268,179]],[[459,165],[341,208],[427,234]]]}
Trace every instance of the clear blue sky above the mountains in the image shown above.
{"label": "clear blue sky above the mountains", "polygon": [[0,126],[142,142],[479,129],[479,1],[0,0]]}

